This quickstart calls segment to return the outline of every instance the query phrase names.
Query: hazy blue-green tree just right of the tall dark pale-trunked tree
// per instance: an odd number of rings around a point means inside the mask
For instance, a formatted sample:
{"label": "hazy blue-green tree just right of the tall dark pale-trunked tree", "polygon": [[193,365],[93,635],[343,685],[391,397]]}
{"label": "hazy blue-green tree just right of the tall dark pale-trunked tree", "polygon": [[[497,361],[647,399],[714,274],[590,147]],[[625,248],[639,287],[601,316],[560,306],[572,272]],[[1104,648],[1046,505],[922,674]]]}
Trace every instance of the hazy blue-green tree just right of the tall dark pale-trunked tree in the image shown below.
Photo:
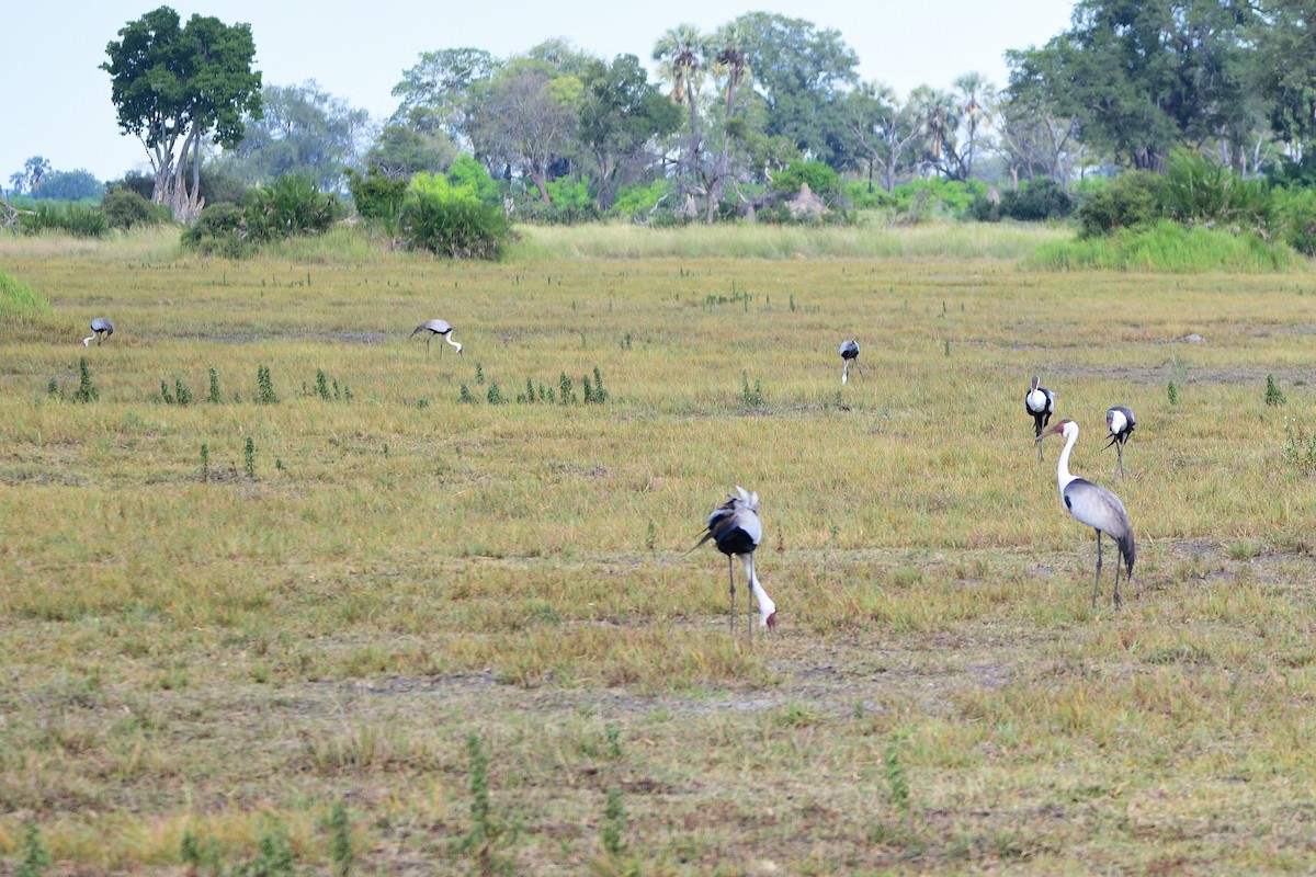
{"label": "hazy blue-green tree just right of the tall dark pale-trunked tree", "polygon": [[286,175],[308,176],[320,191],[337,189],[343,168],[354,166],[370,113],[350,107],[315,80],[301,85],[266,85],[262,113],[243,120],[242,142],[222,163],[249,184],[267,184]]}

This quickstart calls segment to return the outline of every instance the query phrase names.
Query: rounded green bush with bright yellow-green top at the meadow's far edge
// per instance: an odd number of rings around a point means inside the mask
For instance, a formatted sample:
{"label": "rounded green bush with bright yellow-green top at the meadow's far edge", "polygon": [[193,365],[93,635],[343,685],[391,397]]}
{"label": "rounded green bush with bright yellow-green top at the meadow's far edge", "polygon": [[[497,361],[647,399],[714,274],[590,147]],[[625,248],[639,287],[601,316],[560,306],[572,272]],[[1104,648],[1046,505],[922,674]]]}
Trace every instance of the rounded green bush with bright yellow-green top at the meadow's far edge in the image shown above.
{"label": "rounded green bush with bright yellow-green top at the meadow's far edge", "polygon": [[500,208],[433,192],[408,193],[401,229],[413,247],[451,259],[499,259],[512,239],[512,225]]}

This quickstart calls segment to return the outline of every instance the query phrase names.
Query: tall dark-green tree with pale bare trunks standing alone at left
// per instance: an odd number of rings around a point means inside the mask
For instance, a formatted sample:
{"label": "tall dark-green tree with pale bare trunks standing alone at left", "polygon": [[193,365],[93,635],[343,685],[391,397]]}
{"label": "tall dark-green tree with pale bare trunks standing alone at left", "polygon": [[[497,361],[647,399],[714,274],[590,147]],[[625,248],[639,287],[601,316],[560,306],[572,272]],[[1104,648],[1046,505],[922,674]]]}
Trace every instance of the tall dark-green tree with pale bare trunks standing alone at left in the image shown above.
{"label": "tall dark-green tree with pale bare trunks standing alone at left", "polygon": [[[201,147],[234,147],[243,117],[261,113],[261,74],[251,70],[251,26],[193,14],[180,26],[168,7],[118,32],[100,67],[125,134],[142,141],[155,171],[153,200],[188,221],[201,209]],[[191,172],[191,179],[188,179]]]}

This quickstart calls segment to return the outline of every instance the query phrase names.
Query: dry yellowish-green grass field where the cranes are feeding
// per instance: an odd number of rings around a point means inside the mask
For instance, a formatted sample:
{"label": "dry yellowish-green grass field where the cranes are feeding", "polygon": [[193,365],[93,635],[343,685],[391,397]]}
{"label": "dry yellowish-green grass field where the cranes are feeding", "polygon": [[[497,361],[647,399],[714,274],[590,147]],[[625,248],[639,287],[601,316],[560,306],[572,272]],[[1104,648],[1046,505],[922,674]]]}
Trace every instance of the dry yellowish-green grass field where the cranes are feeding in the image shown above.
{"label": "dry yellowish-green grass field where the cranes are feeding", "polygon": [[[595,234],[501,264],[0,242],[54,305],[0,333],[0,872],[30,826],[78,874],[279,873],[283,838],[313,873],[1316,869],[1316,479],[1284,430],[1316,429],[1312,273]],[[432,317],[465,356],[408,339]],[[580,404],[516,401],[563,372]],[[1108,577],[1090,607],[1034,372],[1133,521],[1123,610]],[[725,559],[686,554],[736,484],[780,619],[753,646]]]}

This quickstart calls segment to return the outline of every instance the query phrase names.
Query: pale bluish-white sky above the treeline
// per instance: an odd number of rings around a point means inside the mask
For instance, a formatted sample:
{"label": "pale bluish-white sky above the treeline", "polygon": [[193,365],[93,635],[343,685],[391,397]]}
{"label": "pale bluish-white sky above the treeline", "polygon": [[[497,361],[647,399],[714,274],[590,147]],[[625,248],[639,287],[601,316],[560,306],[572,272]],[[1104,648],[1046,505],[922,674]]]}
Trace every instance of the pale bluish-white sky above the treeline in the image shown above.
{"label": "pale bluish-white sky above the treeline", "polygon": [[763,11],[834,28],[859,55],[859,75],[901,96],[920,84],[950,88],[966,72],[1005,85],[1007,49],[1042,45],[1070,25],[1074,0],[36,0],[8,4],[0,45],[0,185],[33,156],[57,171],[86,168],[101,180],[147,170],[134,137],[120,133],[109,74],[99,66],[118,29],[158,5],[249,22],[255,67],[267,85],[315,79],[336,97],[382,120],[403,70],[422,51],[472,46],[499,58],[565,37],[612,59],[638,55],[653,70],[654,42],[688,22],[713,30]]}

